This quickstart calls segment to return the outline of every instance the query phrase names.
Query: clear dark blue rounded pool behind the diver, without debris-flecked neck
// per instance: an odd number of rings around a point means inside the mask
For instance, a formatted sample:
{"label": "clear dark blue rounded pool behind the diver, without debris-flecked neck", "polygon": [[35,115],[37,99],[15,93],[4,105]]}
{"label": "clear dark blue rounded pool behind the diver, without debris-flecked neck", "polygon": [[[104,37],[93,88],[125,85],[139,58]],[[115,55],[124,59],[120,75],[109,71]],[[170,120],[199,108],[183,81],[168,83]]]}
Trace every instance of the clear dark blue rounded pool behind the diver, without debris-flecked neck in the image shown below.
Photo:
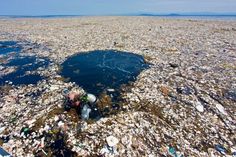
{"label": "clear dark blue rounded pool behind the diver, without debris-flecked neck", "polygon": [[61,75],[98,96],[107,89],[118,90],[122,84],[135,81],[146,68],[148,64],[140,55],[114,50],[92,51],[68,58],[62,64]]}

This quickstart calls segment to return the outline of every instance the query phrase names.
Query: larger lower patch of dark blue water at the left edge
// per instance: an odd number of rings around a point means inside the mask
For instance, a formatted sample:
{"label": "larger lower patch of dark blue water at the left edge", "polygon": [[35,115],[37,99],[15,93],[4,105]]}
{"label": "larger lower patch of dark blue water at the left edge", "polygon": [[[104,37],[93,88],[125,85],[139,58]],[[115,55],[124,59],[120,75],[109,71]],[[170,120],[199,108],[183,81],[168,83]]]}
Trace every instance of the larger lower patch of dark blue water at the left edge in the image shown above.
{"label": "larger lower patch of dark blue water at the left edge", "polygon": [[46,68],[49,65],[49,60],[38,59],[35,56],[15,56],[6,64],[0,64],[5,68],[16,66],[16,71],[0,77],[0,85],[4,85],[6,81],[12,82],[14,85],[20,84],[36,84],[38,81],[44,79],[38,74],[27,74],[27,71],[35,71],[39,67]]}

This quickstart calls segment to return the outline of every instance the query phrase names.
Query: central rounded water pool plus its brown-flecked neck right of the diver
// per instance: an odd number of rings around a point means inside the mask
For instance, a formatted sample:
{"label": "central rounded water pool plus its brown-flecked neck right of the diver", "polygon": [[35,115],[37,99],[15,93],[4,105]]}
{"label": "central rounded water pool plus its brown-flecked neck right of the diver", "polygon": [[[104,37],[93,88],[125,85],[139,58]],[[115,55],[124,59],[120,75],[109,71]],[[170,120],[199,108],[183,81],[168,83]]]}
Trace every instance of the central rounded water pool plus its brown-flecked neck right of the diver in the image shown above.
{"label": "central rounded water pool plus its brown-flecked neck right of the diver", "polygon": [[99,98],[98,104],[92,106],[89,113],[89,118],[97,120],[122,109],[120,87],[134,82],[148,67],[149,64],[140,55],[96,50],[71,56],[62,64],[60,74]]}

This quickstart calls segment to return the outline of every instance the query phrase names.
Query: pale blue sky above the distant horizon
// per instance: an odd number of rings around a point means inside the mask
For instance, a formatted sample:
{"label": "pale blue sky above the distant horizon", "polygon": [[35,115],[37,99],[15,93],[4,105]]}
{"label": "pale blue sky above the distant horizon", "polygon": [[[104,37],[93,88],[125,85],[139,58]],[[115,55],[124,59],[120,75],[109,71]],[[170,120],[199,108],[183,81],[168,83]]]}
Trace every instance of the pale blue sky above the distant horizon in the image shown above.
{"label": "pale blue sky above the distant horizon", "polygon": [[0,15],[236,13],[236,0],[0,0]]}

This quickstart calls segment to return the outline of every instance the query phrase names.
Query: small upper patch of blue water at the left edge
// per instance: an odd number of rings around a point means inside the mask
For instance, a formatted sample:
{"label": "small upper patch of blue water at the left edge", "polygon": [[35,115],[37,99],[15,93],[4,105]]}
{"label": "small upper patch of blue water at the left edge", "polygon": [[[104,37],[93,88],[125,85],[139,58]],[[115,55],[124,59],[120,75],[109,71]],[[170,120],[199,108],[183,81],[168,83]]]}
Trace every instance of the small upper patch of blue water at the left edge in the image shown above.
{"label": "small upper patch of blue water at the left edge", "polygon": [[0,55],[6,55],[10,52],[20,52],[21,46],[16,41],[0,41]]}

